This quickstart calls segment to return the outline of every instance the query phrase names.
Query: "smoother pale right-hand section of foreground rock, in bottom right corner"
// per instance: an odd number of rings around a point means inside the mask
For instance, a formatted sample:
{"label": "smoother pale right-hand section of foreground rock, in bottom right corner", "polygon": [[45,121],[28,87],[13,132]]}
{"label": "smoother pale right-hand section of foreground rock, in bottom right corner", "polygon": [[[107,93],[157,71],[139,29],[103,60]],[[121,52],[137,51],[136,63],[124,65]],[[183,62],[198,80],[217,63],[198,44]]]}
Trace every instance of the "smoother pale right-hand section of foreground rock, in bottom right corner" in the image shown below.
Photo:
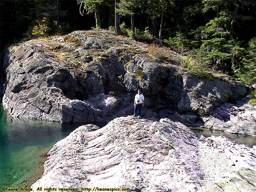
{"label": "smoother pale right-hand section of foreground rock, in bottom right corner", "polygon": [[224,136],[211,136],[199,145],[204,172],[201,191],[256,191],[256,146],[236,144]]}

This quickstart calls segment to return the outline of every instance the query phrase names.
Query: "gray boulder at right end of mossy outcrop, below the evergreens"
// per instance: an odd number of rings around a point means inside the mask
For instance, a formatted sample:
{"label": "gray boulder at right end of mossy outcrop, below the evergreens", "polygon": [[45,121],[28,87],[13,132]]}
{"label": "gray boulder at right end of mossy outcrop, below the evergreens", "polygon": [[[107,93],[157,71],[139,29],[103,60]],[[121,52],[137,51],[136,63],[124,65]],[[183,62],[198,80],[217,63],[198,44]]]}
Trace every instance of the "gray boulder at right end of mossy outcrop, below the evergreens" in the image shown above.
{"label": "gray boulder at right end of mossy outcrop, below the evergreens", "polygon": [[178,111],[193,111],[199,115],[210,114],[222,103],[242,99],[248,93],[246,86],[234,80],[207,80],[192,75],[183,75],[183,86]]}

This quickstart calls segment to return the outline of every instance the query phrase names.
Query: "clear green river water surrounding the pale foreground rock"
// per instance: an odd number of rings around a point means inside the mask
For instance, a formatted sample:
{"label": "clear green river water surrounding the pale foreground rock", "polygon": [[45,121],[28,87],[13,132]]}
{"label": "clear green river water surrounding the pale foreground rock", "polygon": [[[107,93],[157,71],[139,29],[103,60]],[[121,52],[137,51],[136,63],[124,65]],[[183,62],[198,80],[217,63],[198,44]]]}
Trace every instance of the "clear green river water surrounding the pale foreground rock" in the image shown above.
{"label": "clear green river water surrounding the pale foreground rock", "polygon": [[[84,123],[57,123],[14,119],[0,105],[0,188],[30,187],[43,173],[47,152],[58,140]],[[105,123],[106,124],[106,123]],[[103,127],[105,124],[97,124]],[[193,128],[197,135],[224,135],[250,147],[256,138]]]}

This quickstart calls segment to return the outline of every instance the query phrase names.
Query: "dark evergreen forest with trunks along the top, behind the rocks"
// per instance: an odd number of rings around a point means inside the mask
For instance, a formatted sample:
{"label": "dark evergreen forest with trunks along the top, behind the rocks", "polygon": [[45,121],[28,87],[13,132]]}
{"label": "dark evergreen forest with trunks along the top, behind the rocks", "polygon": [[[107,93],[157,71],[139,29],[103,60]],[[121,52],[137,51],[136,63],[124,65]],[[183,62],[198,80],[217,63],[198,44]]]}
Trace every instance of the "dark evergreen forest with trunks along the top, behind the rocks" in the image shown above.
{"label": "dark evergreen forest with trunks along the top, behind the rocks", "polygon": [[[1,52],[26,31],[27,36],[65,34],[91,29],[95,21],[96,28],[114,26],[115,2],[125,35],[150,43],[153,36],[164,39],[184,57],[189,73],[211,78],[217,71],[256,83],[256,2],[247,0],[1,1]],[[79,15],[79,8],[88,14]]]}

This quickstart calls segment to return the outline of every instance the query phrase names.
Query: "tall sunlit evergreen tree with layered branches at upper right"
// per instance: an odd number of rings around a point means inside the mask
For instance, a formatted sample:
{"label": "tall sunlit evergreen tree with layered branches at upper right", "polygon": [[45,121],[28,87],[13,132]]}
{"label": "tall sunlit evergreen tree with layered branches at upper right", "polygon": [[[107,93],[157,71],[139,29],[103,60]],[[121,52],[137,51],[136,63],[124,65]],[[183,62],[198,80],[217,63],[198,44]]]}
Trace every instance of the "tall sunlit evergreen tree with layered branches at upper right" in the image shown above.
{"label": "tall sunlit evergreen tree with layered branches at upper right", "polygon": [[233,30],[234,23],[243,18],[238,13],[242,4],[238,0],[204,0],[202,3],[203,13],[212,19],[197,28],[195,35],[202,41],[199,50],[204,52],[204,58],[210,61],[213,70],[231,74],[245,51]]}

